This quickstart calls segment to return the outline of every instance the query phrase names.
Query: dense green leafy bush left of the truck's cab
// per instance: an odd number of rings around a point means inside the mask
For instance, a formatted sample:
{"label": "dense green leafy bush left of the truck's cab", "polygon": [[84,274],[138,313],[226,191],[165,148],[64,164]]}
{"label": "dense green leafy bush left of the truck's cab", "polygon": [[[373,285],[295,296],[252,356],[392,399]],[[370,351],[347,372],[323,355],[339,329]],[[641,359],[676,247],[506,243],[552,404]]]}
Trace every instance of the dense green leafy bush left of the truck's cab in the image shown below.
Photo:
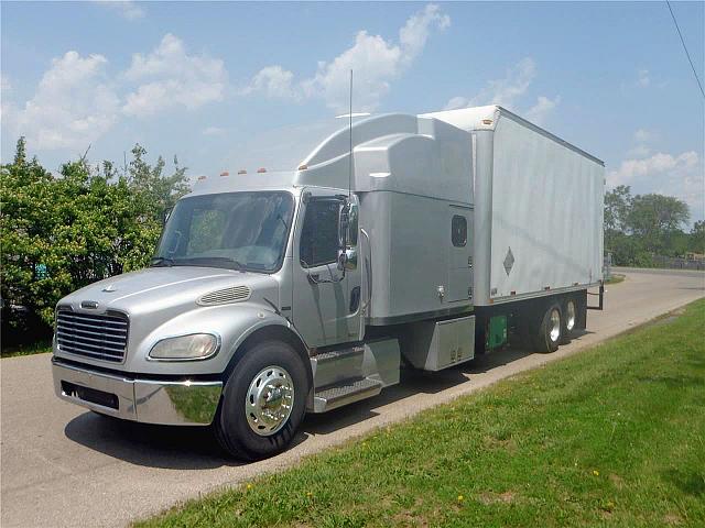
{"label": "dense green leafy bush left of the truck's cab", "polygon": [[[24,139],[14,161],[0,167],[0,293],[3,306],[21,306],[46,326],[63,296],[95,280],[149,263],[164,211],[184,195],[186,169],[174,160],[164,175],[135,145],[122,172],[110,162],[82,158],[57,176],[26,157]],[[14,327],[12,316],[3,324]]]}

